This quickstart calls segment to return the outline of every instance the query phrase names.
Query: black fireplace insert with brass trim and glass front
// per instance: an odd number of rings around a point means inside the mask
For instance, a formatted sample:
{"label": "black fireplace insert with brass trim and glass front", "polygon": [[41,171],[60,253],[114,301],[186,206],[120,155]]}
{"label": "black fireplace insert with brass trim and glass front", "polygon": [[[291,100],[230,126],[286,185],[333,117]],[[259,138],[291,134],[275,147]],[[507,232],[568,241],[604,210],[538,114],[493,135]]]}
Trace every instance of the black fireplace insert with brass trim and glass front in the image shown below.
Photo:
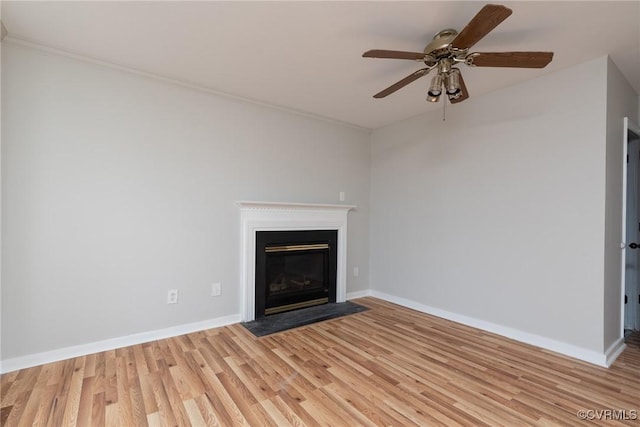
{"label": "black fireplace insert with brass trim and glass front", "polygon": [[255,318],[336,302],[337,230],[256,232]]}

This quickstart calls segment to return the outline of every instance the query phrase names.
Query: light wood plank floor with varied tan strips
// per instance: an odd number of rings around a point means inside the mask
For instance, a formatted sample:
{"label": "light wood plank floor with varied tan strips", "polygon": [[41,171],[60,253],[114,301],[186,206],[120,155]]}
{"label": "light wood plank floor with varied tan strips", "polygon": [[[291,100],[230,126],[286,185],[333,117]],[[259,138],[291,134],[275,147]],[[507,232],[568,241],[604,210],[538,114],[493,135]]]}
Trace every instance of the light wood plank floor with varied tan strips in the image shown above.
{"label": "light wood plank floor with varied tan strips", "polygon": [[238,324],[7,373],[1,424],[640,423],[577,416],[640,412],[637,345],[605,369],[374,298],[357,302],[371,310],[263,338]]}

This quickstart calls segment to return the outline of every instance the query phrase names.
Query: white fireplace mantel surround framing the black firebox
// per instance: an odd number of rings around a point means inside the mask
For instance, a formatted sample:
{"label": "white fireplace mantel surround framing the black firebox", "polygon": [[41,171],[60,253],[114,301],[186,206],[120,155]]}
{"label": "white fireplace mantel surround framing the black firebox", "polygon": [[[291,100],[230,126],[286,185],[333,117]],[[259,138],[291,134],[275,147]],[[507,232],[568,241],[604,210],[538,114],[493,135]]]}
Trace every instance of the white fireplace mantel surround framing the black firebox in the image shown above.
{"label": "white fireplace mantel surround framing the black firebox", "polygon": [[347,298],[347,213],[353,205],[316,203],[247,202],[240,207],[240,314],[255,319],[256,231],[337,230],[338,265],[336,302]]}

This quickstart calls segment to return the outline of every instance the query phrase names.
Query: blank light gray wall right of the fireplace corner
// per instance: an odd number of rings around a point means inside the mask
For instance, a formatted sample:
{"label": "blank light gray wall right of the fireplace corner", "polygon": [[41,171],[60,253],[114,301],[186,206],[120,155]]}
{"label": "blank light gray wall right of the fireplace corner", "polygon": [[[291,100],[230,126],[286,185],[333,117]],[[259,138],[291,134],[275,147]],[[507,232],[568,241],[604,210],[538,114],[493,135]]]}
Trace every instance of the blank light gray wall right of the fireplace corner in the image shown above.
{"label": "blank light gray wall right of the fireplace corner", "polygon": [[372,289],[601,354],[606,90],[601,58],[376,130]]}

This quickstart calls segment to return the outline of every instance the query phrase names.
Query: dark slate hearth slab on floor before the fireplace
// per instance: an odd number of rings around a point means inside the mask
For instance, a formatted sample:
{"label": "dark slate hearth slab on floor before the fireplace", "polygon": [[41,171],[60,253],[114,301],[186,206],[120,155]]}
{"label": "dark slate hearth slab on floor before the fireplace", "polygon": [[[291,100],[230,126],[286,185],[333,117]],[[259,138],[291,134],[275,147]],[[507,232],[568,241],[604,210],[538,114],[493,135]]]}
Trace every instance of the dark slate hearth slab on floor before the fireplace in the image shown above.
{"label": "dark slate hearth slab on floor before the fireplace", "polygon": [[242,323],[249,332],[257,337],[262,337],[276,332],[282,332],[299,326],[310,325],[323,320],[335,319],[348,314],[360,313],[368,310],[351,301],[334,302],[317,305],[315,307],[302,308],[286,313],[273,314],[251,322]]}

